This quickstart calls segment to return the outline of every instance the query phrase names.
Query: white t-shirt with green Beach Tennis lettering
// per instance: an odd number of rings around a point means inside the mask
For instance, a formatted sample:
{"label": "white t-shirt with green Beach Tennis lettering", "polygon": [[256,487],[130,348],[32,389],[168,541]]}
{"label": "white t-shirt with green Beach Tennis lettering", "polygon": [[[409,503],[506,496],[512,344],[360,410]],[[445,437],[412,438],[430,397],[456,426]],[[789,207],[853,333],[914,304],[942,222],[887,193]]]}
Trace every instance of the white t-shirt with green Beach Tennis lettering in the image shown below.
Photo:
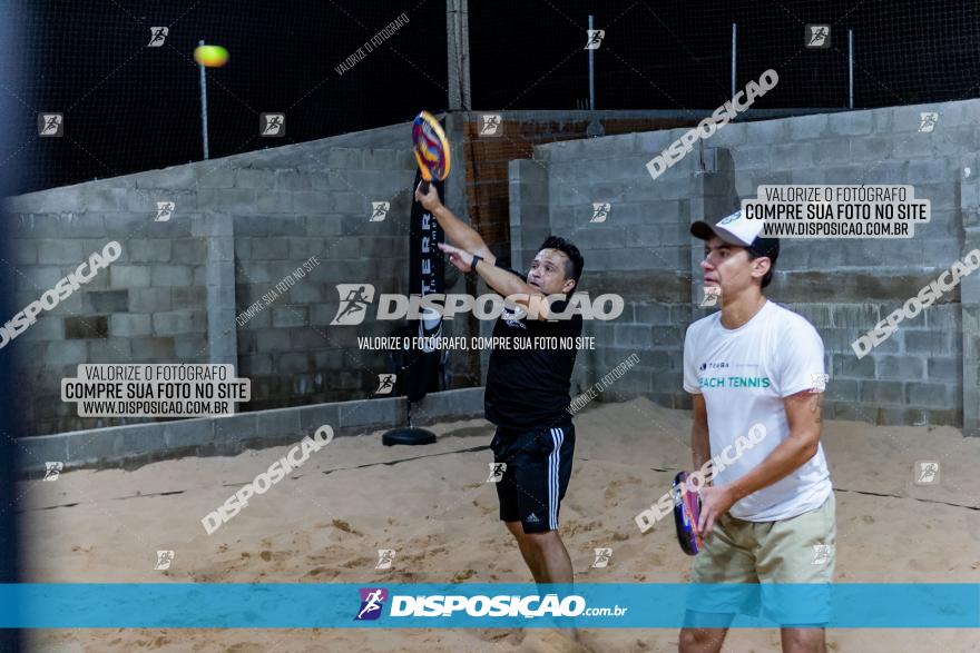
{"label": "white t-shirt with green Beach Tennis lettering", "polygon": [[[823,374],[823,340],[816,329],[773,301],[766,300],[737,329],[722,326],[721,310],[687,328],[684,389],[704,395],[712,456],[734,445],[736,437],[748,437],[754,424],[766,428],[762,442],[717,474],[715,486],[747,474],[790,437],[783,398],[822,389]],[[727,455],[725,463],[732,457]],[[749,522],[787,520],[819,508],[831,491],[821,445],[816,455],[788,476],[736,502],[729,514]]]}

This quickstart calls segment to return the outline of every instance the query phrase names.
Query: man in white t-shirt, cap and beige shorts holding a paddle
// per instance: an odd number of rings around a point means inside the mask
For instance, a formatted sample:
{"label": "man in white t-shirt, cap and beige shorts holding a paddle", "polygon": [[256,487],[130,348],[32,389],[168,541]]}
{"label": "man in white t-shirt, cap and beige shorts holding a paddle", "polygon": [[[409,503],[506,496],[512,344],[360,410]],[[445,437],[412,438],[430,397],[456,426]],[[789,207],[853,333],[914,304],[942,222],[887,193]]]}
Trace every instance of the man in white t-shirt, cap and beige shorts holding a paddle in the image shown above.
{"label": "man in white t-shirt, cap and beige shorts holding a paddle", "polygon": [[[836,526],[820,444],[824,348],[804,317],[763,295],[780,241],[761,238],[762,227],[742,211],[715,226],[690,227],[705,241],[705,286],[721,288],[722,305],[690,325],[684,339],[694,468],[749,432],[765,437],[724,459],[712,485],[699,491],[703,542],[690,581],[735,585],[732,592],[694,587],[682,653],[721,651],[735,614],[754,614],[759,595],[763,615],[781,625],[784,652],[826,650]],[[816,594],[802,598],[795,587],[781,594],[785,583],[814,584]]]}

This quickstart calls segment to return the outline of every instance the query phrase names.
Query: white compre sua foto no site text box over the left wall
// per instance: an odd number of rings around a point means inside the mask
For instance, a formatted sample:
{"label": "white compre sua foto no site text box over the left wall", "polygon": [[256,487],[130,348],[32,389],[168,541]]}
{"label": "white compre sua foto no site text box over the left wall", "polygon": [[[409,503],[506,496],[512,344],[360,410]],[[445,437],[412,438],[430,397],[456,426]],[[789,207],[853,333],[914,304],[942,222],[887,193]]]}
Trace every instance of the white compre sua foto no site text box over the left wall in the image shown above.
{"label": "white compre sua foto no site text box over the left wall", "polygon": [[81,364],[61,379],[61,400],[79,417],[198,417],[232,415],[252,399],[252,380],[227,364]]}

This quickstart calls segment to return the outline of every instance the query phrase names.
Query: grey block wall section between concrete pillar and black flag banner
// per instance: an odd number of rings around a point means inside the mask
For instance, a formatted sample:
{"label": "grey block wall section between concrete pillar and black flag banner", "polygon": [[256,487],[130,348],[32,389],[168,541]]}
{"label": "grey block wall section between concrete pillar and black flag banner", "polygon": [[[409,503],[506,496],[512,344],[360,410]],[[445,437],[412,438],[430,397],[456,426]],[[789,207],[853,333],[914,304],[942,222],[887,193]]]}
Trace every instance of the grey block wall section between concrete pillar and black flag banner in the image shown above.
{"label": "grey block wall section between concrete pillar and black flag banner", "polygon": [[[375,294],[409,290],[411,152],[350,149],[332,157],[337,170],[330,174],[249,171],[249,184],[286,194],[292,204],[236,216],[238,313],[308,257],[321,261],[238,328],[239,374],[252,378],[254,409],[366,396],[389,372],[384,355],[361,350],[356,337],[390,335],[394,323],[330,323],[340,307],[337,284],[370,283]],[[384,220],[370,221],[372,201],[390,202]]]}

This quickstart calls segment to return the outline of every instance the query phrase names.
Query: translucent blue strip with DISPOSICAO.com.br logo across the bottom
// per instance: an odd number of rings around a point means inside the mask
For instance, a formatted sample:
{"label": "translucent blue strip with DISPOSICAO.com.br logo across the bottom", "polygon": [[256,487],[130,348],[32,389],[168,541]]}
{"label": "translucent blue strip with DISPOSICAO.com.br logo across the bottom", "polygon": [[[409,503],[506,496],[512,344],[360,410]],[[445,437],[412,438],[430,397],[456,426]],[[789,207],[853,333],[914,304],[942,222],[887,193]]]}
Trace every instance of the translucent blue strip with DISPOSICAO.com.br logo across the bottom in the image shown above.
{"label": "translucent blue strip with DISPOSICAO.com.br logo across the bottom", "polygon": [[20,629],[977,629],[980,584],[7,584]]}

